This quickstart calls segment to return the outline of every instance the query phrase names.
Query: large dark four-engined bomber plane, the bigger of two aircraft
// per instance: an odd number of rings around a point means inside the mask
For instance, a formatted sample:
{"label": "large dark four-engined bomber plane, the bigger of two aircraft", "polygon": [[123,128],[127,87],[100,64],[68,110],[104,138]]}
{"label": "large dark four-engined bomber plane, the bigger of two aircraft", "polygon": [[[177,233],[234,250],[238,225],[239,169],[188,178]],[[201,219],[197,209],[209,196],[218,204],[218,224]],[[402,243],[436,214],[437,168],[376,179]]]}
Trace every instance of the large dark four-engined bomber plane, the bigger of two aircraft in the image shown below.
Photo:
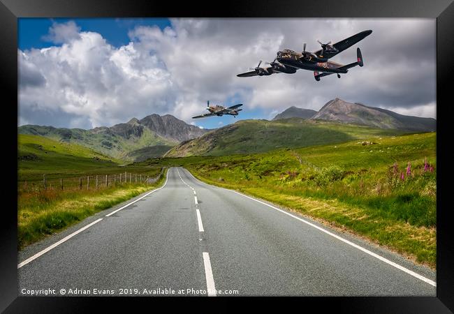
{"label": "large dark four-engined bomber plane, the bigger of two aircraft", "polygon": [[316,81],[319,81],[320,77],[331,75],[333,73],[336,73],[337,77],[340,78],[340,74],[347,73],[349,68],[364,65],[360,48],[356,50],[356,62],[342,65],[328,60],[339,52],[342,52],[352,45],[355,45],[360,40],[363,40],[371,33],[371,30],[361,31],[360,33],[341,40],[334,45],[331,45],[331,42],[321,43],[317,40],[321,45],[321,50],[317,50],[316,52],[307,52],[306,43],[303,44],[302,52],[285,49],[277,52],[277,57],[272,63],[270,63],[270,67],[260,68],[261,62],[259,62],[258,66],[254,68],[253,71],[238,74],[237,77],[249,77],[256,75],[263,76],[271,75],[273,73],[295,73],[297,69],[301,68],[303,70],[314,71]]}

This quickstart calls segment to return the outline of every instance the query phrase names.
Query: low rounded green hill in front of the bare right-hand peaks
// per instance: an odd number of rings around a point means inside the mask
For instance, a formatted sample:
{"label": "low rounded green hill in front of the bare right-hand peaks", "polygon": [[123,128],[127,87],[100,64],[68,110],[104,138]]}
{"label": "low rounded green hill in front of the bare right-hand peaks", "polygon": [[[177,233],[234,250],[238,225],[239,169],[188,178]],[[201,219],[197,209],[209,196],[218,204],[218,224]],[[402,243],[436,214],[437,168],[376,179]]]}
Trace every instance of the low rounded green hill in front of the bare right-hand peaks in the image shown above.
{"label": "low rounded green hill in front of the bare right-hand peaks", "polygon": [[381,135],[400,135],[401,130],[383,130],[312,119],[242,120],[217,128],[194,140],[182,142],[165,157],[255,154],[272,149],[335,144]]}

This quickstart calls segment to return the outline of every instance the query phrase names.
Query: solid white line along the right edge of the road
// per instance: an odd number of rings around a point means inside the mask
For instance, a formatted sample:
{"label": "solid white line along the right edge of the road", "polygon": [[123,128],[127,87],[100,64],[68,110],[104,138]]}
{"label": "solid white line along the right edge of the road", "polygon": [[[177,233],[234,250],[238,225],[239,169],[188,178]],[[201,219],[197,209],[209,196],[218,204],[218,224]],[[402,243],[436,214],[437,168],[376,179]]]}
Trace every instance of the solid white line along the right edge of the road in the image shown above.
{"label": "solid white line along the right edge of the road", "polygon": [[[186,169],[185,169],[185,170],[186,170]],[[188,170],[186,170],[186,171],[189,172]],[[189,174],[191,174],[191,172],[189,172]],[[199,181],[200,183],[202,183],[202,184],[205,184],[205,185],[207,185],[207,186],[212,186],[212,185],[210,185],[210,184],[206,184],[206,183],[203,182],[203,181],[200,181],[199,179],[197,179],[196,177],[194,177],[193,174],[191,174],[191,176],[192,176],[194,179],[196,179],[197,181]],[[220,188],[219,186],[213,186],[213,187],[214,187],[214,188]],[[277,210],[277,211],[280,211],[280,212],[283,213],[283,214],[286,214],[286,215],[288,215],[288,216],[291,216],[292,218],[298,219],[298,220],[302,221],[303,223],[306,223],[307,225],[310,225],[311,227],[314,227],[314,228],[320,230],[321,232],[325,232],[325,234],[329,234],[331,237],[335,237],[336,239],[338,239],[338,240],[340,240],[340,241],[342,241],[342,242],[344,242],[344,243],[346,243],[346,244],[349,244],[350,246],[353,246],[354,248],[358,248],[358,250],[363,251],[364,253],[367,253],[367,254],[369,254],[369,255],[371,255],[371,256],[377,258],[378,260],[381,260],[382,262],[386,262],[386,264],[389,264],[389,265],[391,265],[391,266],[393,266],[393,267],[395,267],[395,268],[397,268],[397,269],[400,269],[401,271],[404,271],[405,273],[407,273],[407,274],[409,274],[409,275],[411,275],[411,276],[413,276],[413,277],[415,277],[415,278],[418,278],[418,279],[420,279],[421,281],[424,281],[425,283],[428,283],[429,285],[433,285],[434,287],[437,287],[437,283],[436,283],[435,281],[432,281],[432,280],[430,280],[429,278],[425,278],[424,276],[421,276],[420,274],[416,274],[414,271],[411,271],[410,269],[407,269],[407,268],[405,268],[405,267],[403,267],[403,266],[400,266],[400,264],[396,264],[395,262],[392,262],[392,261],[388,260],[388,259],[385,258],[385,257],[382,257],[382,256],[380,256],[380,255],[378,255],[378,254],[376,254],[376,253],[374,253],[374,252],[372,252],[372,251],[367,250],[367,248],[363,248],[362,246],[358,246],[358,244],[354,244],[353,242],[351,242],[351,241],[349,241],[349,240],[347,240],[347,239],[344,239],[344,238],[342,238],[342,237],[339,237],[337,234],[334,234],[334,233],[332,233],[332,232],[329,232],[328,230],[325,230],[325,229],[323,229],[322,227],[318,227],[318,225],[314,225],[313,223],[310,223],[309,221],[307,221],[307,220],[305,220],[305,219],[302,219],[302,218],[300,218],[300,217],[298,217],[298,216],[295,216],[295,215],[293,215],[293,214],[290,214],[290,213],[288,213],[287,211],[284,211],[284,210],[282,210],[282,209],[279,209],[279,208],[277,208],[277,207],[274,207],[274,206],[272,206],[272,205],[270,205],[270,204],[267,204],[267,203],[265,203],[265,202],[262,202],[262,201],[260,201],[260,200],[256,200],[254,197],[250,197],[250,196],[244,195],[244,194],[242,194],[242,193],[239,193],[239,192],[237,192],[236,190],[229,190],[228,188],[221,188],[221,189],[223,189],[223,190],[228,190],[228,191],[233,192],[233,193],[237,193],[238,195],[242,195],[242,196],[244,196],[244,197],[249,198],[250,200],[254,200],[254,201],[256,201],[256,202],[259,202],[259,203],[261,203],[261,204],[264,204],[265,206],[271,207],[272,209],[275,209],[275,210]]]}

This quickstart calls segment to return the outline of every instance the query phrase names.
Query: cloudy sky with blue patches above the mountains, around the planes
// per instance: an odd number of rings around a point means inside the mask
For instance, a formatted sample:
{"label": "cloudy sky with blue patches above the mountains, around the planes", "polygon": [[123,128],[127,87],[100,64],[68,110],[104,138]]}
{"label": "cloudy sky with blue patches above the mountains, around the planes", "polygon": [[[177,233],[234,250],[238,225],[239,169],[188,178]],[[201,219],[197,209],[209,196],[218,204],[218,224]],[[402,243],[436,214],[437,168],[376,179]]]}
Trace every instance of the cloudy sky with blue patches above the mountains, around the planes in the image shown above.
{"label": "cloudy sky with blue patches above the mountains, around the planes", "polygon": [[[316,51],[316,40],[335,43],[365,29],[372,35],[332,60],[350,63],[356,47],[363,52],[365,66],[341,79],[316,82],[306,70],[236,76],[279,50],[307,43]],[[155,113],[218,128],[291,106],[319,110],[337,97],[436,117],[433,19],[20,18],[18,46],[19,125],[94,128]],[[243,110],[191,119],[207,100]]]}

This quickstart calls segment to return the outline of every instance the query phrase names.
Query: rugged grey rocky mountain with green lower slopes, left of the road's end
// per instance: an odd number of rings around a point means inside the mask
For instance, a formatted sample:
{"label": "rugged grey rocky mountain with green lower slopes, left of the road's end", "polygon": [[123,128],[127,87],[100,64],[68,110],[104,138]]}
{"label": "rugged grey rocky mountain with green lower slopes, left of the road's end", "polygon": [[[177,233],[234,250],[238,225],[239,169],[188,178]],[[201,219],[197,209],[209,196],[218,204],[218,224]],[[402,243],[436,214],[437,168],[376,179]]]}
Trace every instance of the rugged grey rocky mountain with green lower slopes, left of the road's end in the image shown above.
{"label": "rugged grey rocky mountain with green lower slopes, left of the road's end", "polygon": [[[207,130],[191,126],[170,114],[151,114],[133,118],[125,124],[101,126],[91,130],[54,128],[53,126],[20,126],[18,133],[41,135],[52,140],[80,144],[101,154],[123,160],[143,160],[164,154],[176,144],[199,137]],[[156,147],[157,148],[152,148]]]}

